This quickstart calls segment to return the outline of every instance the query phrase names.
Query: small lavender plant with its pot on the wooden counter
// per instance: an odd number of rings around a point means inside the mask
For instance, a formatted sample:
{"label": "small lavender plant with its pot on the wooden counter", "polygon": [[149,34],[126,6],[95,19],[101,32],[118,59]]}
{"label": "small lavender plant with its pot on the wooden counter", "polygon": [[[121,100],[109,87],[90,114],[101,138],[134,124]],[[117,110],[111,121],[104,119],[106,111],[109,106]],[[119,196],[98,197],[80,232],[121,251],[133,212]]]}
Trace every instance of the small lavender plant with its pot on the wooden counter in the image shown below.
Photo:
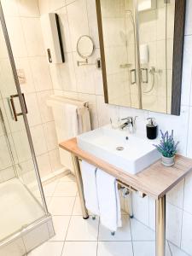
{"label": "small lavender plant with its pot on the wooden counter", "polygon": [[161,130],[161,139],[159,145],[154,145],[155,148],[162,154],[162,164],[164,166],[173,166],[175,163],[175,154],[177,153],[178,142],[175,143],[172,134],[169,135],[169,132],[166,131],[164,134]]}

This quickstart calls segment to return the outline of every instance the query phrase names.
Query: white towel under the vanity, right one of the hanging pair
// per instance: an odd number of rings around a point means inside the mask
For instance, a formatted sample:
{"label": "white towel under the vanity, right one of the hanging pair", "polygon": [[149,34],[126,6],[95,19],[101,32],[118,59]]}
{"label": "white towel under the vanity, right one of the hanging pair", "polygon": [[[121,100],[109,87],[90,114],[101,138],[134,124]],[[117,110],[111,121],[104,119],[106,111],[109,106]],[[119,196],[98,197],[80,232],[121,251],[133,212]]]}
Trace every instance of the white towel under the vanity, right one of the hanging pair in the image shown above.
{"label": "white towel under the vanity, right one of the hanging pair", "polygon": [[116,179],[107,172],[97,169],[96,186],[101,223],[109,230],[116,231],[122,225]]}

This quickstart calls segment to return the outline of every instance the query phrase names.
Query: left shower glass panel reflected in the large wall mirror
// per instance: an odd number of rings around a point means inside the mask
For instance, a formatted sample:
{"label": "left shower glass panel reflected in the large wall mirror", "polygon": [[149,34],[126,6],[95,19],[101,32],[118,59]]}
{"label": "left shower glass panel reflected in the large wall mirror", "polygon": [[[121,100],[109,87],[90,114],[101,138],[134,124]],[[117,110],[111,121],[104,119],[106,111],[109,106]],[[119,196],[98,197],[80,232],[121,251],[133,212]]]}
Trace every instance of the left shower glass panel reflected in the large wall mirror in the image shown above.
{"label": "left shower glass panel reflected in the large wall mirror", "polygon": [[[131,70],[133,79],[135,71],[131,64],[130,30],[127,23],[125,0],[101,0],[103,55],[105,55],[108,103],[131,107]],[[129,48],[129,49],[128,49]],[[128,52],[130,51],[130,52]]]}

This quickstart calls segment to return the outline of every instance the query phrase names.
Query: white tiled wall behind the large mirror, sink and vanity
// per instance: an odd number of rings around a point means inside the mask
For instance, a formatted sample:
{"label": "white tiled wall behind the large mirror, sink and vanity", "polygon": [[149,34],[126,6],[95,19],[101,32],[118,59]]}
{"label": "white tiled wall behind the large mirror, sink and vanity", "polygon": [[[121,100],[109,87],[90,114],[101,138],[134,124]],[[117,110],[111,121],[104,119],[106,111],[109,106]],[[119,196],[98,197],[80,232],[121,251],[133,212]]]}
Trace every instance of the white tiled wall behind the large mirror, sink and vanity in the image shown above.
{"label": "white tiled wall behind the large mirror, sink and vanity", "polygon": [[[159,0],[160,2],[161,0]],[[117,8],[119,1],[113,0]],[[163,3],[163,0],[162,0]],[[92,127],[109,123],[109,118],[138,116],[137,131],[145,136],[148,117],[154,117],[163,131],[174,129],[179,140],[179,153],[192,158],[192,1],[187,0],[186,28],[183,57],[182,109],[180,116],[166,115],[133,108],[118,108],[104,103],[102,73],[96,67],[78,67],[80,60],[76,53],[76,43],[83,34],[89,34],[96,44],[96,51],[90,62],[100,56],[96,24],[95,0],[39,0],[41,14],[54,11],[60,15],[62,39],[67,61],[61,65],[51,65],[51,77],[56,94],[88,100]],[[192,175],[177,185],[167,195],[167,237],[178,247],[192,255]],[[154,201],[133,195],[135,217],[154,228]]]}

